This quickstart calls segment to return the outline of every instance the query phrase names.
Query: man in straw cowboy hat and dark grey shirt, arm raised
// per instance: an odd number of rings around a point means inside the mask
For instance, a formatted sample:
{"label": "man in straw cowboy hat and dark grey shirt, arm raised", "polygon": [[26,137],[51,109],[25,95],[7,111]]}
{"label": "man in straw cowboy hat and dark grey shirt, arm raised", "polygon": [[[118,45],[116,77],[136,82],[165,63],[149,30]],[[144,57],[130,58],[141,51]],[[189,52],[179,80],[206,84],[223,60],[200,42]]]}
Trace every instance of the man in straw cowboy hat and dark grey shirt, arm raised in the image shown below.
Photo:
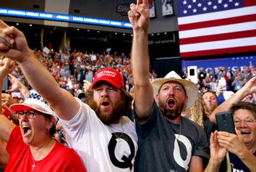
{"label": "man in straw cowboy hat and dark grey shirt, arm raised", "polygon": [[137,0],[130,7],[134,110],[139,139],[135,170],[203,171],[203,159],[208,158],[206,135],[199,125],[181,117],[181,112],[195,102],[197,86],[174,71],[150,84],[148,0]]}

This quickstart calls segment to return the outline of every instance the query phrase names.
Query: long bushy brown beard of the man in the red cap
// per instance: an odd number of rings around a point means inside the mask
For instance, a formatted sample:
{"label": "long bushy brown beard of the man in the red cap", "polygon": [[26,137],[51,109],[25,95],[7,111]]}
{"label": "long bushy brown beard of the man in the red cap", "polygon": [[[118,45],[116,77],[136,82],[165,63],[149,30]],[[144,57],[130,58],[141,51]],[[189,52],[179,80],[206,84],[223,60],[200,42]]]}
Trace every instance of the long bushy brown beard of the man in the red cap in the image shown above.
{"label": "long bushy brown beard of the man in the red cap", "polygon": [[[111,99],[107,98],[107,100],[108,100],[108,103],[111,104],[113,108],[112,112],[109,112],[108,114],[103,114],[97,102],[95,102],[93,99],[90,99],[90,101],[88,101],[88,105],[90,106],[90,108],[94,110],[98,118],[101,119],[101,122],[103,122],[106,125],[110,125],[110,124],[114,124],[117,120],[119,120],[121,116],[126,115],[127,112],[129,111],[129,108],[127,104],[125,104],[124,99],[120,99],[119,101],[116,102],[116,104],[114,104],[113,101],[111,101]],[[100,105],[102,101],[103,100],[100,100],[100,103],[99,103]]]}

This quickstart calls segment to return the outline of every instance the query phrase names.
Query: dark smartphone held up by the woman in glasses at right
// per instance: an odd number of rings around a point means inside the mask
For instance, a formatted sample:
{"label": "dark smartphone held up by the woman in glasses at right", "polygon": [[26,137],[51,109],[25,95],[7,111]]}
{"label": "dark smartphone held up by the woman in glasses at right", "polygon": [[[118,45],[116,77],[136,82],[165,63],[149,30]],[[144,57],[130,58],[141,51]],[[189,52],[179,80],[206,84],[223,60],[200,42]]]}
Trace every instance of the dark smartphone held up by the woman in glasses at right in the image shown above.
{"label": "dark smartphone held up by the woman in glasses at right", "polygon": [[230,132],[236,135],[234,119],[231,112],[218,112],[215,117],[219,131]]}

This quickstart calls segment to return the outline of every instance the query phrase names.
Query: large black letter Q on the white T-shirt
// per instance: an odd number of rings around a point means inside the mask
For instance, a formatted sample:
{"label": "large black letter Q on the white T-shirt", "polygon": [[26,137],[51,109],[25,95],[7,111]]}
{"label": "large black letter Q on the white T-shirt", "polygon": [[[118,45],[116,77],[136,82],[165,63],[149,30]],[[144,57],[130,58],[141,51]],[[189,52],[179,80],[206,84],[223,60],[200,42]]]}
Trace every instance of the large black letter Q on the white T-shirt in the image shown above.
{"label": "large black letter Q on the white T-shirt", "polygon": [[[135,157],[135,145],[133,144],[132,139],[131,137],[129,137],[129,135],[121,132],[115,132],[115,134],[116,135],[112,133],[111,140],[108,143],[108,154],[111,159],[111,162],[116,167],[130,168],[130,170],[132,170],[132,158]],[[115,148],[117,143],[116,142],[117,137],[125,140],[129,145],[129,149],[131,150],[131,154],[128,157],[123,155],[123,157],[121,158],[121,160],[124,160],[124,162],[120,162],[118,159],[116,159]]]}

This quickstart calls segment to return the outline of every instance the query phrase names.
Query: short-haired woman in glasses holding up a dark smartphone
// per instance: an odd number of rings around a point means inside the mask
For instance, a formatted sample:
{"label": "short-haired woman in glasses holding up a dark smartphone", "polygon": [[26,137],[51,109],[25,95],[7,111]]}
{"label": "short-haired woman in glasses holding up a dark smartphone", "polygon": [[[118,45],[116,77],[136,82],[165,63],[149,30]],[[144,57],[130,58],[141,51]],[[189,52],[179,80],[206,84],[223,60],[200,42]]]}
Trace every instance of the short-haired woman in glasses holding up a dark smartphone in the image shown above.
{"label": "short-haired woman in glasses holding up a dark smartphone", "polygon": [[231,107],[231,112],[236,135],[212,133],[205,171],[256,171],[256,104],[240,102]]}

